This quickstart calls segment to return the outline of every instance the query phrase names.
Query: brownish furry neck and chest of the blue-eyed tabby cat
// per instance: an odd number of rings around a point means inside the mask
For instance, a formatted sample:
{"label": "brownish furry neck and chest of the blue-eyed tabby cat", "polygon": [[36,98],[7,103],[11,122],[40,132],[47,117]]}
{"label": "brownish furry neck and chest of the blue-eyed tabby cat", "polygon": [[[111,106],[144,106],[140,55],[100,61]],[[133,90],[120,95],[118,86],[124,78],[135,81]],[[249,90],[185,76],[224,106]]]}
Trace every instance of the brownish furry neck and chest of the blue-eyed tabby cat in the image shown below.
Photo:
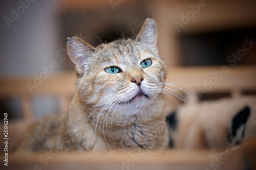
{"label": "brownish furry neck and chest of the blue-eyed tabby cat", "polygon": [[96,122],[95,117],[89,116],[92,109],[92,106],[84,105],[78,94],[75,94],[68,115],[70,128],[76,128],[76,133],[90,129],[95,135],[101,136],[107,148],[112,149],[167,146],[167,128],[161,103],[137,110],[135,114],[127,110],[123,110],[123,113],[116,111],[114,114],[120,117],[115,115],[115,119],[111,119],[111,114],[108,118],[105,115],[98,117]]}

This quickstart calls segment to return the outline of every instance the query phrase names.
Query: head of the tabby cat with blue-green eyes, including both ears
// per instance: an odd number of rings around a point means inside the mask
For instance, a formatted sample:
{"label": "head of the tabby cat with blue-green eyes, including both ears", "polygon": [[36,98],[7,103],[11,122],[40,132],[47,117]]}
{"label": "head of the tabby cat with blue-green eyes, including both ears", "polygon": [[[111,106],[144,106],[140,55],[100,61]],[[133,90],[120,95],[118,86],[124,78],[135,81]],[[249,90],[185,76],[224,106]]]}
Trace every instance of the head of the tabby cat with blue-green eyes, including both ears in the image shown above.
{"label": "head of the tabby cat with blue-green eyes, including both ears", "polygon": [[157,27],[152,18],[145,20],[135,39],[93,47],[78,37],[68,38],[81,102],[105,110],[130,109],[136,114],[160,100],[166,71],[156,44]]}

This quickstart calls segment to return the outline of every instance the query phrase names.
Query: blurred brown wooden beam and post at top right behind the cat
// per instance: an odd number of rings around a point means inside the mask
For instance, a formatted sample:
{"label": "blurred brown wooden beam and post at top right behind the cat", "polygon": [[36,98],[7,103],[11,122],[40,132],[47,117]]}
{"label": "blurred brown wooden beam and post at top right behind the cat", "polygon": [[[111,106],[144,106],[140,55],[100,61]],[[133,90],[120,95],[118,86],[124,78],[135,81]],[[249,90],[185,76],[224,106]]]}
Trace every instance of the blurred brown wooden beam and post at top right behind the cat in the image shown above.
{"label": "blurred brown wooden beam and post at top right behind the cat", "polygon": [[[202,2],[204,7],[199,9],[198,14],[189,17],[188,23],[177,30],[174,23],[183,23],[182,14],[187,16],[192,11],[191,7]],[[160,56],[167,66],[181,64],[181,33],[207,33],[255,26],[255,5],[255,1],[151,1],[148,8],[157,21]]]}

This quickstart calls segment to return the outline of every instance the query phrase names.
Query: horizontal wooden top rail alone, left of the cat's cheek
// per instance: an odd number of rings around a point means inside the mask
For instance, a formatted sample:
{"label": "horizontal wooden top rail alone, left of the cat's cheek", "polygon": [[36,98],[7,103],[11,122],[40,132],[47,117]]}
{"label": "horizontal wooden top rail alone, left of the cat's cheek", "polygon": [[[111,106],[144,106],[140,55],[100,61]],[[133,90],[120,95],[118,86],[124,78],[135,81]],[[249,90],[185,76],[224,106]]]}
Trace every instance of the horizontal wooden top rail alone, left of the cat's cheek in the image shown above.
{"label": "horizontal wooden top rail alone, left of the cat's cheek", "polygon": [[[39,75],[39,74],[36,74]],[[50,94],[72,94],[75,89],[74,71],[60,72],[49,75],[42,83],[29,91],[27,83],[34,84],[34,78],[31,77],[7,77],[0,78],[0,96],[16,96],[22,94],[50,93]]]}

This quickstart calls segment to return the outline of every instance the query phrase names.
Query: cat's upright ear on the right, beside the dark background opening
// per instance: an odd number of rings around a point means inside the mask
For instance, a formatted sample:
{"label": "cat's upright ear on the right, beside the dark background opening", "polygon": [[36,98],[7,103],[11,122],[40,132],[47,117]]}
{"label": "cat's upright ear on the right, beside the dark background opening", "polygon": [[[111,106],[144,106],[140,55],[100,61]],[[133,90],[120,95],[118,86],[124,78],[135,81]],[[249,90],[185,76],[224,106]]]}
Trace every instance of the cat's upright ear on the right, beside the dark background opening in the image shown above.
{"label": "cat's upright ear on the right, beside the dark background opening", "polygon": [[146,18],[143,26],[135,39],[136,41],[146,43],[156,47],[157,44],[157,25],[153,18]]}

